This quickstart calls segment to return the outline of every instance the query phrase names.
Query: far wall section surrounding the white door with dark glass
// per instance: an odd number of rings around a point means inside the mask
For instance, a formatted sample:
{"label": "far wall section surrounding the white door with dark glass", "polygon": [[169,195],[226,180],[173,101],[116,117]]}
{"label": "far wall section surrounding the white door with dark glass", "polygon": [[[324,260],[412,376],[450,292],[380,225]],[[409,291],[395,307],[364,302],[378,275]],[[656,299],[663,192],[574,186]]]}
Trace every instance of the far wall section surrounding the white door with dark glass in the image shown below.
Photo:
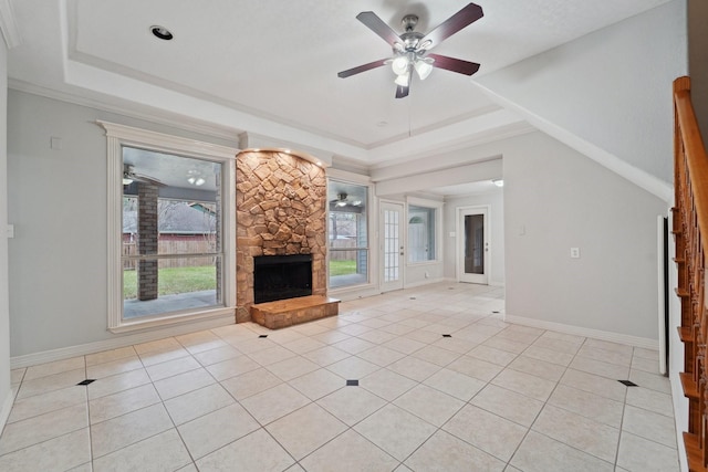
{"label": "far wall section surrounding the white door with dark glass", "polygon": [[[445,199],[445,277],[457,277],[457,209],[460,207],[489,206],[491,266],[489,268],[489,284],[504,285],[504,195],[502,189],[482,195],[464,197],[448,197]],[[450,237],[450,232],[456,232]]]}

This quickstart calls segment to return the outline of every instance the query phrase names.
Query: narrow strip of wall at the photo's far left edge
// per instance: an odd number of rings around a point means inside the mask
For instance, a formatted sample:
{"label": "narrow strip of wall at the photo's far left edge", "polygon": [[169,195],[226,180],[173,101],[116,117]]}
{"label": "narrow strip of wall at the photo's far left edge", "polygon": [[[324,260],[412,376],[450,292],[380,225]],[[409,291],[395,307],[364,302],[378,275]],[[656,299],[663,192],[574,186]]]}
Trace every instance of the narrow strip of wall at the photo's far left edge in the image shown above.
{"label": "narrow strip of wall at the photo's far left edge", "polygon": [[8,51],[0,44],[0,430],[10,415],[10,304],[8,280]]}

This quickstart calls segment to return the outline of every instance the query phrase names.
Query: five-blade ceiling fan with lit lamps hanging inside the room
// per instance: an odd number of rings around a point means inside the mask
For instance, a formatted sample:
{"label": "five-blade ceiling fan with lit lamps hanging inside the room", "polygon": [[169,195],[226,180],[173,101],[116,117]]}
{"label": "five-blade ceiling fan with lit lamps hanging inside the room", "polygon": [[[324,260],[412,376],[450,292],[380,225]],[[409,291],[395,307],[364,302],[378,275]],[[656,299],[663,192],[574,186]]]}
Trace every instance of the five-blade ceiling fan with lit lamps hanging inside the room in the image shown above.
{"label": "five-blade ceiling fan with lit lamps hanging inside the room", "polygon": [[418,17],[407,14],[402,20],[405,32],[398,35],[388,24],[378,18],[376,13],[373,11],[363,11],[356,15],[356,19],[391,44],[394,56],[342,71],[337,76],[345,78],[372,69],[381,67],[382,65],[391,64],[396,74],[396,80],[394,81],[396,84],[396,98],[403,98],[408,96],[413,71],[416,71],[421,81],[430,74],[433,67],[472,75],[479,70],[479,64],[476,62],[462,61],[461,59],[449,57],[447,55],[431,54],[428,53],[428,51],[482,17],[482,8],[478,4],[469,3],[428,34],[424,35],[423,33],[414,31],[418,23]]}

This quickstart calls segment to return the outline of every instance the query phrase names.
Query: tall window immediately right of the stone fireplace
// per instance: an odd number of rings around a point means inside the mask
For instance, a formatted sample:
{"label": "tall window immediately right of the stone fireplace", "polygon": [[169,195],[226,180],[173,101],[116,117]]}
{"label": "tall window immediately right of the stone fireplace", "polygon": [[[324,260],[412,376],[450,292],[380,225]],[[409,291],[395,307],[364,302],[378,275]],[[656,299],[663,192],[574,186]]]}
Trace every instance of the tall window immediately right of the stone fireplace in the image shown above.
{"label": "tall window immediately right of the stone fireplace", "polygon": [[330,287],[368,282],[368,187],[329,181]]}

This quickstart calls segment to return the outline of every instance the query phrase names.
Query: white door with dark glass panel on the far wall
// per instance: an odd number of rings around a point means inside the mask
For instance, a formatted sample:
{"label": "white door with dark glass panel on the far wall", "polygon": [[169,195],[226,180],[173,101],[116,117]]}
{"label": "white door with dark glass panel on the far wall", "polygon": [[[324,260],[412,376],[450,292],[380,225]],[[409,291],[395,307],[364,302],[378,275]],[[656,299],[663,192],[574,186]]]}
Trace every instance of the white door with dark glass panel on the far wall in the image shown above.
{"label": "white door with dark glass panel on the far wall", "polygon": [[486,207],[457,209],[457,280],[487,284],[489,224]]}

